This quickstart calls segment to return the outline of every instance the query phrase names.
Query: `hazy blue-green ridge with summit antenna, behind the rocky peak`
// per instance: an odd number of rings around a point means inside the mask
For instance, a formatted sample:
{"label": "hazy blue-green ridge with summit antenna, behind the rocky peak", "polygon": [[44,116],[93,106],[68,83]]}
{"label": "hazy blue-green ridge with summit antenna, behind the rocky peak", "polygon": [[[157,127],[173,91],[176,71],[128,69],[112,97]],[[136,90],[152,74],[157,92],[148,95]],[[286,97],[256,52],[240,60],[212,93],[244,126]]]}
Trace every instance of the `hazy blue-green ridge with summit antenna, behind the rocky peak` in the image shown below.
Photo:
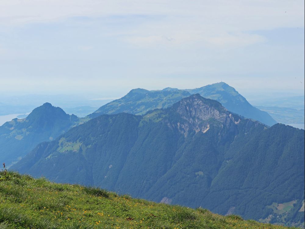
{"label": "hazy blue-green ridge with summit antenna, behind the rocky peak", "polygon": [[170,87],[153,91],[140,88],[132,89],[127,95],[103,105],[91,115],[88,115],[88,117],[95,118],[102,114],[117,114],[120,112],[143,115],[147,111],[155,108],[167,108],[182,98],[196,93],[199,93],[205,98],[217,100],[229,111],[246,118],[255,119],[269,126],[276,123],[267,112],[253,107],[233,87],[224,82],[184,90]]}

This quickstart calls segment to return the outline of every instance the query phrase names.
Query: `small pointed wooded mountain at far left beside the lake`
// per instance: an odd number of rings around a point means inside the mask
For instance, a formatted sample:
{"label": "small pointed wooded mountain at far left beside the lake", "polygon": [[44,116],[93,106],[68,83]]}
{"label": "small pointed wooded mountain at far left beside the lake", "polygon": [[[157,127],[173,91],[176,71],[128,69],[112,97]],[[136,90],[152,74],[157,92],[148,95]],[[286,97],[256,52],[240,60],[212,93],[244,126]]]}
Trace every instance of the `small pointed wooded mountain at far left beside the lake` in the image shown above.
{"label": "small pointed wooded mountain at far left beside the lake", "polygon": [[20,160],[38,143],[50,141],[79,122],[75,115],[67,115],[61,108],[45,103],[26,118],[14,118],[0,126],[0,161]]}

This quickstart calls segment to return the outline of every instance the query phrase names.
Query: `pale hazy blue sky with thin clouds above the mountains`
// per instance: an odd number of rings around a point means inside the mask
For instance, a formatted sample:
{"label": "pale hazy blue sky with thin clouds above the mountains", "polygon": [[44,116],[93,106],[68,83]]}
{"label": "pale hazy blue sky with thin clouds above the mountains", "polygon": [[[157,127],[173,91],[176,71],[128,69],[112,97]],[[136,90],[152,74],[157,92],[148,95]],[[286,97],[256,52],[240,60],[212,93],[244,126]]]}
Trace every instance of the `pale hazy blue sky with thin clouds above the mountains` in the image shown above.
{"label": "pale hazy blue sky with thin clouds above the mountains", "polygon": [[[304,1],[1,0],[0,93],[304,93]],[[302,82],[302,83],[300,83]]]}

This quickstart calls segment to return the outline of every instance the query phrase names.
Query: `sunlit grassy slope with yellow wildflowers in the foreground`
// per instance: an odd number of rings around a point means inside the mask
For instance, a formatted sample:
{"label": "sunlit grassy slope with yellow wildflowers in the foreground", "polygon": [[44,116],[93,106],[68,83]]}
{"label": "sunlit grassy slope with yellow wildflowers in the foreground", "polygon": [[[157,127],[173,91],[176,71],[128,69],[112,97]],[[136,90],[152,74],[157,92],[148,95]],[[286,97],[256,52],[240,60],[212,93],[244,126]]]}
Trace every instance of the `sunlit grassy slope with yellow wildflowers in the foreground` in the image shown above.
{"label": "sunlit grassy slope with yellow wildflowers in the foreground", "polygon": [[0,171],[0,202],[1,229],[287,228],[4,171]]}

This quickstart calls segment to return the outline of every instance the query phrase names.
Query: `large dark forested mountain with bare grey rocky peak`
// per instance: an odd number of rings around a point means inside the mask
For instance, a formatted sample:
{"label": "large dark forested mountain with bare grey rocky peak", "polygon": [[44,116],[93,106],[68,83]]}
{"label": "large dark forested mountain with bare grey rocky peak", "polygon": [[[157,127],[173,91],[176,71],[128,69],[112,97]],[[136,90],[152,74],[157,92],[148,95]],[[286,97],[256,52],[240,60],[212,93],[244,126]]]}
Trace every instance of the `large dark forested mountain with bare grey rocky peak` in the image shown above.
{"label": "large dark forested mountain with bare grey rocky peak", "polygon": [[155,202],[304,226],[304,130],[269,127],[199,94],[144,115],[100,115],[38,144],[11,169]]}

